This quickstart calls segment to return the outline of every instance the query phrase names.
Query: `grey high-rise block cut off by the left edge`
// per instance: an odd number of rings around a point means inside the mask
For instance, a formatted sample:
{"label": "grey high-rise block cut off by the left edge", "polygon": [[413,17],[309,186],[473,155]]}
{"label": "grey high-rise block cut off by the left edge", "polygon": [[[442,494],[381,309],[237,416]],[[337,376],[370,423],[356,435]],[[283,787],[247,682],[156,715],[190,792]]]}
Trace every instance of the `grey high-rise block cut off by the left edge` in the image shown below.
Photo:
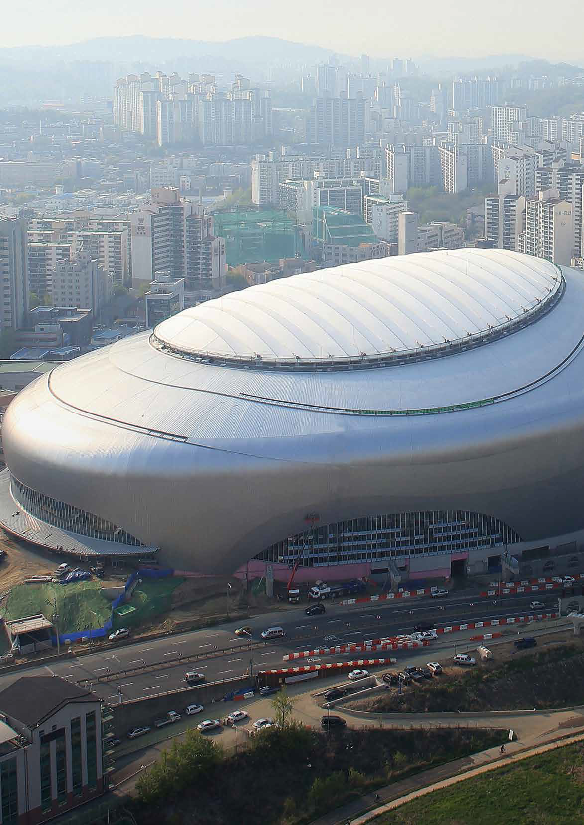
{"label": "grey high-rise block cut off by the left edge", "polygon": [[26,219],[0,219],[0,331],[24,323],[28,307]]}

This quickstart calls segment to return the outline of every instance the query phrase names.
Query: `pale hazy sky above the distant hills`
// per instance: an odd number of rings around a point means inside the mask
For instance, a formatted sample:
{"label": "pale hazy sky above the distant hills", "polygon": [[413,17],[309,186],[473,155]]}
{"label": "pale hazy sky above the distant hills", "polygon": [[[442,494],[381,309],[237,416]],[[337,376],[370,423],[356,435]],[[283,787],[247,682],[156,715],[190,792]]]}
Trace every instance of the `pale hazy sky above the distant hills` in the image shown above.
{"label": "pale hazy sky above the distant hills", "polygon": [[271,35],[346,54],[530,54],[584,62],[584,0],[3,0],[0,45],[104,35]]}

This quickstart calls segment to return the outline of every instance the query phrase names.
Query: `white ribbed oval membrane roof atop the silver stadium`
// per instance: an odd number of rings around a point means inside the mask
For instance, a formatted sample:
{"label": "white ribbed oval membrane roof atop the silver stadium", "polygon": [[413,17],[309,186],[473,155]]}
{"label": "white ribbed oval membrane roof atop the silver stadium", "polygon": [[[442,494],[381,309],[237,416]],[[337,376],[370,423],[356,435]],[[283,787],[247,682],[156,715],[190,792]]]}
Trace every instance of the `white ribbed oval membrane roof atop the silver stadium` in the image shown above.
{"label": "white ribbed oval membrane roof atop the silver stadium", "polygon": [[457,249],[337,266],[186,309],[153,341],[238,361],[393,357],[484,342],[541,314],[562,288],[558,267],[502,249]]}

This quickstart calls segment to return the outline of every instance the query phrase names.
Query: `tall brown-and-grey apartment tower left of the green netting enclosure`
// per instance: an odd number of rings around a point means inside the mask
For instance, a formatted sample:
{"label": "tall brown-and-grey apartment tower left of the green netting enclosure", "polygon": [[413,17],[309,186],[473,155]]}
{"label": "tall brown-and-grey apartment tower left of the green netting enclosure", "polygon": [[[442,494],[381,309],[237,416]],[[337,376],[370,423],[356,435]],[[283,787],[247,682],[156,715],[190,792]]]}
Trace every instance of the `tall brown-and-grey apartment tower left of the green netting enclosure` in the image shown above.
{"label": "tall brown-and-grey apartment tower left of the green netting enclosure", "polygon": [[224,287],[224,238],[214,236],[212,216],[177,189],[153,189],[152,204],[134,212],[131,225],[134,281],[152,282],[166,270],[184,279],[186,291]]}

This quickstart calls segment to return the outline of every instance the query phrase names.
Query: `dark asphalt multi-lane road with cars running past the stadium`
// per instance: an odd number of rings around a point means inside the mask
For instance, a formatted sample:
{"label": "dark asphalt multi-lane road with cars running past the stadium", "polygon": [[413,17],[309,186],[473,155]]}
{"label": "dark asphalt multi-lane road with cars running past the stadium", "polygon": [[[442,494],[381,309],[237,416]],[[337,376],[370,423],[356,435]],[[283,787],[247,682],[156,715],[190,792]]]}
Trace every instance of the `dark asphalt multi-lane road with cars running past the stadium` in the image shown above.
{"label": "dark asphalt multi-lane road with cars running past the stadium", "polygon": [[[307,616],[306,604],[298,609],[256,616],[240,622],[252,628],[254,672],[282,667],[285,653],[328,647],[332,644],[360,642],[379,636],[407,633],[418,621],[432,620],[437,627],[460,621],[499,619],[523,615],[534,596],[503,596],[493,601],[469,593],[442,600],[420,597],[411,601],[389,601],[342,606],[327,604],[321,615]],[[553,596],[544,596],[546,608],[557,608]],[[261,642],[261,630],[279,625],[285,637]],[[137,699],[186,687],[185,672],[205,674],[206,681],[242,676],[250,663],[247,637],[234,634],[236,622],[204,630],[168,635],[161,639],[120,642],[115,647],[54,662],[50,667],[22,667],[2,676],[0,687],[24,674],[54,673],[69,681],[88,681],[105,700]],[[388,654],[389,655],[389,654]],[[311,661],[343,661],[363,654],[334,654]],[[195,657],[195,658],[192,658]],[[303,660],[303,663],[307,659]],[[126,671],[126,672],[125,672]],[[130,671],[130,672],[127,672]],[[116,676],[120,672],[120,676]],[[125,673],[124,673],[125,672]]]}

